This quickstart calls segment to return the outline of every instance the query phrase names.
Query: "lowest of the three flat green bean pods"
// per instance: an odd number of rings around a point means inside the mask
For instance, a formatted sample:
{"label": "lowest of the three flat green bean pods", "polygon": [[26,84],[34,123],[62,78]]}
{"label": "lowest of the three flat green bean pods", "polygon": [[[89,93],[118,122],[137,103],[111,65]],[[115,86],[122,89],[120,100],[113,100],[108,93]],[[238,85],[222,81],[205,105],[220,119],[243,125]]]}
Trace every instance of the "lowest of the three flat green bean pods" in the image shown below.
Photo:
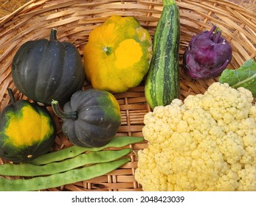
{"label": "lowest of the three flat green bean pods", "polygon": [[130,158],[123,158],[113,162],[98,163],[63,173],[44,177],[33,177],[31,179],[7,180],[6,178],[0,177],[0,191],[39,191],[47,188],[57,188],[61,185],[90,180],[91,178],[107,174],[129,161]]}

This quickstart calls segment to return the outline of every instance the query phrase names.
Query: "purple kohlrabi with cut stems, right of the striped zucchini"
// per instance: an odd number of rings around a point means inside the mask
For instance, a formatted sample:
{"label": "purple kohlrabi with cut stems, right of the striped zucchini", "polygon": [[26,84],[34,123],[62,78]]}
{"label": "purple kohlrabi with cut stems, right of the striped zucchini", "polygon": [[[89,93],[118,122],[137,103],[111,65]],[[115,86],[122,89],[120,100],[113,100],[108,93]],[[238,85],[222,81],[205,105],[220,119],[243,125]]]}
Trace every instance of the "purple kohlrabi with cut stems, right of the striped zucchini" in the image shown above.
{"label": "purple kohlrabi with cut stems, right of the striped zucchini", "polygon": [[184,51],[184,71],[193,79],[219,77],[232,58],[232,48],[221,30],[213,26],[210,31],[193,36]]}

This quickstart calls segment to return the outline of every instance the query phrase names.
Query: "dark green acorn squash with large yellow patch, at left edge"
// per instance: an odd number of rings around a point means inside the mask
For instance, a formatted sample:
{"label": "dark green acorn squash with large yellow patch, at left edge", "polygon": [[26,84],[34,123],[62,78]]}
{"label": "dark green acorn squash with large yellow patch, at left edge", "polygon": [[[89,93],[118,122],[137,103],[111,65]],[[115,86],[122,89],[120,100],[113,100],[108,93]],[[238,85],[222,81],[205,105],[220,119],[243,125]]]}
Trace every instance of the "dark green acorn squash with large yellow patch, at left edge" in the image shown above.
{"label": "dark green acorn squash with large yellow patch, at left edge", "polygon": [[49,152],[56,135],[55,124],[46,107],[26,100],[11,104],[0,114],[0,157],[14,163],[29,162]]}

